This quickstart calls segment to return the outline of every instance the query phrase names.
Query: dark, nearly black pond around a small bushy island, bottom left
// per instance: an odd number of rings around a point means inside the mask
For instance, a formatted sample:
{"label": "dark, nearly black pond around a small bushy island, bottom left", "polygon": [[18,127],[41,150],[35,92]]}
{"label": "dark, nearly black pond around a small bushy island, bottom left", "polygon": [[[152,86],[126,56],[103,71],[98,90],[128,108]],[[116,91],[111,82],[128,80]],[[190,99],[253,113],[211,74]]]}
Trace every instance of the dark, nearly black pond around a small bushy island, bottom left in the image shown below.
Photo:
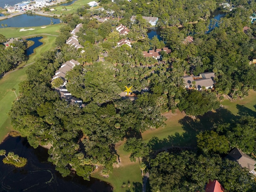
{"label": "dark, nearly black pond around a small bushy island, bottom left", "polygon": [[32,148],[25,138],[8,136],[0,149],[14,152],[27,158],[28,163],[23,168],[15,168],[4,164],[0,156],[0,191],[36,191],[36,192],[63,192],[63,191],[94,191],[111,192],[111,186],[106,182],[91,178],[84,181],[82,177],[72,175],[65,178],[56,172],[55,166],[47,162],[48,153],[45,148]]}

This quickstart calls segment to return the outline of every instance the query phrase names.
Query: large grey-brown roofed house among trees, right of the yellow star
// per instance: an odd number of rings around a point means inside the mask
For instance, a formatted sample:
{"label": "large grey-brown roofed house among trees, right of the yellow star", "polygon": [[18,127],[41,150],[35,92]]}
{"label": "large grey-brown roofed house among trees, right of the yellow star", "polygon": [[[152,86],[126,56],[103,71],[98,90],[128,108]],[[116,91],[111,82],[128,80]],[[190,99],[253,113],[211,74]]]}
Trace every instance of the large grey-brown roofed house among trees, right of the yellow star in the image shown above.
{"label": "large grey-brown roofed house among trees, right of the yellow star", "polygon": [[[214,72],[200,73],[199,76],[183,76],[185,88],[202,90],[202,87],[206,89],[212,89],[214,87]],[[192,87],[192,82],[196,82],[195,87]]]}

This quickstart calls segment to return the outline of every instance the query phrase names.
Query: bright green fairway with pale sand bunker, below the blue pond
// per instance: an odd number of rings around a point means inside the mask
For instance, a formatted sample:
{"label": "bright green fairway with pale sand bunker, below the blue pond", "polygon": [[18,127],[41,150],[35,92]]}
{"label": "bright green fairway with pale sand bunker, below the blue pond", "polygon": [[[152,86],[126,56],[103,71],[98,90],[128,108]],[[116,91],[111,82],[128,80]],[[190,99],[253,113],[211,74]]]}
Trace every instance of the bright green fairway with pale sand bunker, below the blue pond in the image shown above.
{"label": "bright green fairway with pale sand bunker, below the blue pond", "polygon": [[7,28],[0,28],[0,34],[4,35],[6,38],[19,38],[25,36],[36,36],[38,34],[50,34],[50,35],[59,35],[60,34],[60,27],[62,24],[54,24],[54,25],[47,25],[46,28],[41,28],[44,26],[39,27],[27,27],[24,29],[33,28],[35,30],[28,30],[28,31],[20,31],[20,28],[17,27],[7,27]]}

